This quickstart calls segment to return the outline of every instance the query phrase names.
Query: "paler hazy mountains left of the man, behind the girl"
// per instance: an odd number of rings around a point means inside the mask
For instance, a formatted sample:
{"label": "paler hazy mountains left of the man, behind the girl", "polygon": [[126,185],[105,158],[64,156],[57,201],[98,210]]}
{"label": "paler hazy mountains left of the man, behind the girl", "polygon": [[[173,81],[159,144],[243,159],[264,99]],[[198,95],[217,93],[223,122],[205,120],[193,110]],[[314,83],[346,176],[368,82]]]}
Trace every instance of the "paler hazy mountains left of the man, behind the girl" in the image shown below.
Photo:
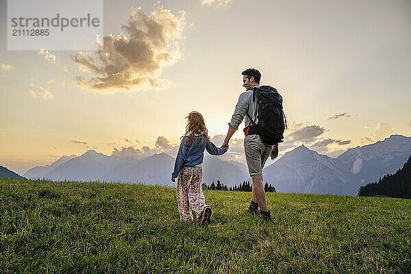
{"label": "paler hazy mountains left of the man, behind the girl", "polygon": [[[100,180],[175,186],[175,183],[171,182],[175,158],[166,153],[158,153],[138,159],[134,156],[108,156],[91,149],[78,157],[75,155],[63,157],[50,165],[53,168],[50,168],[50,166],[36,166],[29,169],[24,175],[27,178],[45,177],[55,181],[64,181],[64,179],[76,181]],[[219,179],[225,184],[234,185],[249,179],[246,170],[245,166],[237,162],[223,161],[214,156],[205,155],[203,182],[211,184],[212,181],[216,182]]]}

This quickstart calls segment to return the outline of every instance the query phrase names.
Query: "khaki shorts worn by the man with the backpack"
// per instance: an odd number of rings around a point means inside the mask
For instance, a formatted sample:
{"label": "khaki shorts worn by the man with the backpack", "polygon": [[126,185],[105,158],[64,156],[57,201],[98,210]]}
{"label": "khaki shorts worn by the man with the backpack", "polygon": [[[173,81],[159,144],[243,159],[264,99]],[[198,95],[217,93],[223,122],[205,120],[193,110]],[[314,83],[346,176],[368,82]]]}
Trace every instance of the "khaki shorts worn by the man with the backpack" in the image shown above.
{"label": "khaki shorts worn by the man with the backpack", "polygon": [[266,145],[262,142],[245,142],[245,160],[247,160],[250,176],[262,175],[262,168],[272,150],[273,145]]}

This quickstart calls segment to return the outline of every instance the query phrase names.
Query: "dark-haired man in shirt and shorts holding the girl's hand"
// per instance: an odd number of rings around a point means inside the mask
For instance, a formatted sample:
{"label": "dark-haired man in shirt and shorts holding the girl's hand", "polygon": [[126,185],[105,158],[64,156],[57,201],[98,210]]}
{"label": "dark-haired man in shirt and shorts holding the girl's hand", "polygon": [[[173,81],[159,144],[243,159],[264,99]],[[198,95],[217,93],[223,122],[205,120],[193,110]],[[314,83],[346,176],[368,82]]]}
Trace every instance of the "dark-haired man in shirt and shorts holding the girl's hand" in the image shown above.
{"label": "dark-haired man in shirt and shorts holding the girl's hand", "polygon": [[[254,123],[258,124],[258,105],[257,100],[253,100],[253,88],[260,86],[261,73],[257,69],[246,69],[242,71],[242,86],[245,92],[240,94],[236,110],[232,116],[232,120],[228,123],[228,132],[221,147],[228,147],[229,139],[232,138],[238,126],[245,119],[245,127],[251,125],[250,118]],[[248,114],[248,115],[247,115]],[[262,168],[271,155],[271,159],[278,156],[278,143],[275,145],[266,145],[261,141],[258,134],[247,134],[244,138],[245,159],[252,180],[253,199],[247,212],[258,214],[258,206],[260,206],[260,216],[267,222],[271,222],[271,214],[267,207],[267,201],[262,180]]]}

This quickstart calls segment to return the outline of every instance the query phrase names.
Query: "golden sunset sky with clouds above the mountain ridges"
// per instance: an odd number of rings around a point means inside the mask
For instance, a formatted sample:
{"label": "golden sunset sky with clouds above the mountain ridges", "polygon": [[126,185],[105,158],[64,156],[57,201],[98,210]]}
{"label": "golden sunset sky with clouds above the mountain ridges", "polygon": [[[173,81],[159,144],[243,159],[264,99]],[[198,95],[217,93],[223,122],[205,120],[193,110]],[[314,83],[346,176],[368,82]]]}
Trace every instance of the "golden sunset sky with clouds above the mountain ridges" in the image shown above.
{"label": "golden sunset sky with clouds above the mountain ridges", "polygon": [[[409,0],[107,0],[103,8],[95,51],[8,51],[0,0],[2,166],[23,174],[88,149],[175,156],[192,110],[219,146],[249,67],[284,98],[282,154],[305,144],[336,157],[411,136]],[[233,138],[223,160],[243,162],[242,131]]]}

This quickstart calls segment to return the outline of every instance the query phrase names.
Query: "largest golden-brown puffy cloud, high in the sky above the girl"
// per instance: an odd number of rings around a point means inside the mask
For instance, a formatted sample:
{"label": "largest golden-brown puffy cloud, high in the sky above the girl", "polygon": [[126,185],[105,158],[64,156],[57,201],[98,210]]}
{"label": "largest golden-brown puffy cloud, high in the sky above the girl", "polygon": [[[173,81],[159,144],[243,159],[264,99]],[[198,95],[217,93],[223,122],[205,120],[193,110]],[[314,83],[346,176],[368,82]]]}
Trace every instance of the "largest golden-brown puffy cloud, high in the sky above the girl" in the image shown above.
{"label": "largest golden-brown puffy cloud, high in the sky above the girl", "polygon": [[186,27],[185,13],[175,16],[170,10],[157,7],[149,16],[142,8],[132,8],[125,32],[97,40],[99,49],[80,51],[71,59],[81,71],[94,73],[86,80],[77,76],[79,86],[109,93],[129,88],[164,88],[169,82],[161,79],[162,70],[181,56],[179,40]]}

